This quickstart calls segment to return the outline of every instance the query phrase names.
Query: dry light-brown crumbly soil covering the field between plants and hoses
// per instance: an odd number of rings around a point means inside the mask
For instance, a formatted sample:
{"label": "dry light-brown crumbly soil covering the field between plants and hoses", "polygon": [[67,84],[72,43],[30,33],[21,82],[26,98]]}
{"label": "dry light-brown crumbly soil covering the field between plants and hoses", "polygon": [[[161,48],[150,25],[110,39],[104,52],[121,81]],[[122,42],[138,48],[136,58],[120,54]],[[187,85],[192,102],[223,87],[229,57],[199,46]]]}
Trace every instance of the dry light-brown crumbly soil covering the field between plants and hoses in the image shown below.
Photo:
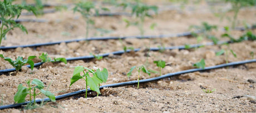
{"label": "dry light-brown crumbly soil covering the field between plants and hoses", "polygon": [[[216,24],[219,28],[229,25],[228,20],[223,22],[214,17],[206,3],[195,6],[198,9],[166,10],[171,4],[169,2],[146,1],[149,4],[157,4],[163,9],[154,19],[146,19],[145,34],[171,34],[188,31],[189,25],[200,25],[201,22]],[[54,3],[60,3],[55,1]],[[65,3],[71,3],[66,1]],[[168,4],[169,3],[169,4]],[[205,9],[205,10],[202,10]],[[231,14],[231,13],[230,13]],[[239,20],[246,20],[249,24],[255,22],[255,10],[243,9],[239,13]],[[21,18],[35,18],[33,16],[21,16]],[[28,29],[28,34],[22,33],[19,29],[14,29],[8,33],[7,40],[3,40],[2,45],[24,45],[43,42],[53,42],[58,40],[83,38],[85,36],[85,22],[77,13],[71,10],[45,14],[40,19],[47,19],[47,23],[22,23]],[[111,29],[112,32],[104,36],[124,36],[139,35],[136,27],[125,27],[122,18],[135,19],[134,17],[115,16],[115,17],[95,17],[95,27]],[[149,29],[151,23],[157,23],[155,30]],[[242,24],[239,24],[242,25]],[[70,35],[63,35],[68,32]],[[220,37],[223,32],[215,31],[212,34]],[[235,37],[244,32],[233,31]],[[256,34],[256,30],[253,30]],[[90,29],[90,36],[99,36],[99,32]],[[227,38],[219,38],[228,40]],[[210,42],[204,39],[201,43]],[[45,83],[55,95],[71,93],[73,91],[85,89],[85,83],[80,80],[70,88],[70,78],[73,67],[82,65],[90,69],[107,68],[109,78],[106,83],[112,84],[124,81],[137,80],[137,73],[132,73],[127,78],[126,73],[134,65],[146,65],[147,69],[158,70],[154,60],[165,60],[168,64],[163,69],[163,74],[173,73],[181,70],[193,69],[194,63],[205,59],[206,66],[214,66],[226,63],[225,55],[215,56],[215,52],[227,49],[227,45],[211,45],[198,49],[190,50],[165,50],[163,53],[150,52],[150,57],[145,57],[146,46],[171,47],[184,44],[196,44],[195,38],[177,37],[162,39],[125,39],[125,40],[106,40],[61,43],[45,47],[17,48],[11,50],[0,50],[0,54],[5,57],[16,58],[22,56],[27,58],[29,55],[39,56],[47,52],[51,58],[56,57],[80,57],[92,54],[102,54],[122,50],[123,46],[142,48],[139,52],[131,52],[122,55],[110,55],[102,60],[78,60],[64,63],[45,63],[33,70],[23,67],[16,75],[3,74],[0,76],[0,95],[3,97],[3,105],[13,104],[13,96],[17,92],[19,84],[26,84],[28,79],[40,79]],[[256,53],[256,42],[245,41],[233,43],[229,48],[237,53],[235,58],[231,53],[228,54],[228,62],[252,59],[250,52]],[[254,55],[256,56],[256,55]],[[254,57],[255,58],[255,57]],[[35,59],[40,62],[40,59]],[[0,59],[0,69],[12,68],[7,61]],[[142,74],[140,79],[153,78],[159,74],[147,76]],[[248,81],[249,80],[249,81]],[[254,81],[254,82],[253,82]],[[244,64],[229,68],[221,68],[204,72],[195,72],[166,78],[163,80],[140,84],[137,86],[123,86],[120,88],[104,88],[102,95],[89,97],[87,99],[79,96],[69,99],[58,100],[57,102],[47,103],[45,106],[34,110],[5,109],[1,112],[256,112],[255,100],[244,95],[256,96],[256,64]],[[204,93],[202,89],[216,89],[213,93]],[[95,96],[95,94],[91,94]],[[42,98],[38,97],[39,98]]]}

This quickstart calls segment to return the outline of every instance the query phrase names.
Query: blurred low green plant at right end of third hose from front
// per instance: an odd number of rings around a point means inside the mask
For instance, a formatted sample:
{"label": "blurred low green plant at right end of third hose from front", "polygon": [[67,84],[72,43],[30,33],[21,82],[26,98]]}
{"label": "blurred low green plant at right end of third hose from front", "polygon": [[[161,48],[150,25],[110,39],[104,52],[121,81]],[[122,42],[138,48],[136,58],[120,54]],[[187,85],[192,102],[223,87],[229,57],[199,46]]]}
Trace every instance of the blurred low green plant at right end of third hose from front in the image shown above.
{"label": "blurred low green plant at right end of third hose from front", "polygon": [[[218,30],[218,27],[216,25],[210,25],[206,22],[201,23],[201,25],[191,25],[189,27],[190,30],[193,32],[193,36],[197,37],[198,43],[199,40],[201,41],[203,37],[206,37],[207,39],[210,39],[213,41],[214,44],[217,44],[219,42],[219,39],[216,38],[214,35],[211,34],[213,30]],[[195,31],[200,31],[201,33],[198,35],[195,33]]]}

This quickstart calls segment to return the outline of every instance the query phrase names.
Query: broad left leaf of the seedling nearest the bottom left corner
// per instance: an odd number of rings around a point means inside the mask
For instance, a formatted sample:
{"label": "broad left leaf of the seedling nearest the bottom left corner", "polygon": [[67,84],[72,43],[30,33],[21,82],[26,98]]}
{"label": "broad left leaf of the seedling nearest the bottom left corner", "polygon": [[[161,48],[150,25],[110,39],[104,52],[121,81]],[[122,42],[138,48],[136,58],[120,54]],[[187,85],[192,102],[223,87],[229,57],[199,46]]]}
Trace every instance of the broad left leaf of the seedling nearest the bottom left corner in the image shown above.
{"label": "broad left leaf of the seedling nearest the bottom left corner", "polygon": [[25,102],[25,98],[26,98],[27,94],[29,94],[27,88],[22,86],[22,84],[19,84],[18,91],[14,95],[14,101],[16,103]]}

